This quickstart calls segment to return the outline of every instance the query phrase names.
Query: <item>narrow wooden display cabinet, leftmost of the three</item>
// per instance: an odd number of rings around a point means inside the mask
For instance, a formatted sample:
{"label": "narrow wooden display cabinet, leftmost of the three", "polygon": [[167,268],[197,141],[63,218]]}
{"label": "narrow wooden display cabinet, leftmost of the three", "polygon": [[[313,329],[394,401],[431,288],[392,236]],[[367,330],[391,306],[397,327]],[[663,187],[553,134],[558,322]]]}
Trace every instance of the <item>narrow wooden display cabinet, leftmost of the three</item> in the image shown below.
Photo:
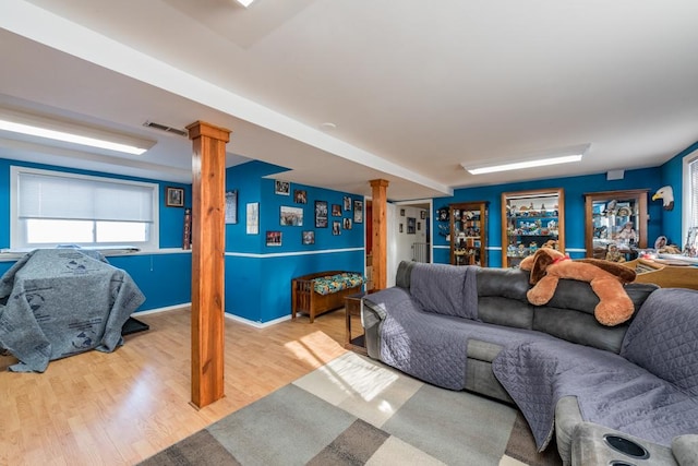
{"label": "narrow wooden display cabinet, leftmost of the three", "polygon": [[448,206],[450,263],[488,266],[488,203],[462,202]]}

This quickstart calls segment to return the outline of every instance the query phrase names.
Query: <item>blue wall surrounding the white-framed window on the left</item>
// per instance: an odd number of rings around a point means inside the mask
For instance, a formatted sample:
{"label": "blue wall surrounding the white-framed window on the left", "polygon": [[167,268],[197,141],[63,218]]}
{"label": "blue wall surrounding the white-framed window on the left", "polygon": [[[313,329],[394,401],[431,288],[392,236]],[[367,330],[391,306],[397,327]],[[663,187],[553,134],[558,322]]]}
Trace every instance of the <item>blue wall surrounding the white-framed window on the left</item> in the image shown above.
{"label": "blue wall surrounding the white-framed window on the left", "polygon": [[[185,203],[190,205],[191,186],[189,184],[123,177],[96,171],[75,170],[49,165],[27,164],[24,162],[0,158],[0,218],[8,219],[7,222],[2,222],[0,226],[0,249],[10,248],[10,166],[12,165],[157,183],[160,191],[160,248],[182,247],[184,210],[181,207],[167,207],[165,205],[165,188],[183,188]],[[145,295],[146,301],[141,306],[139,311],[158,309],[191,301],[191,253],[144,253],[112,256],[108,258],[108,260],[112,265],[125,270]],[[14,262],[11,261],[0,262],[0,274],[7,272],[13,264]]]}

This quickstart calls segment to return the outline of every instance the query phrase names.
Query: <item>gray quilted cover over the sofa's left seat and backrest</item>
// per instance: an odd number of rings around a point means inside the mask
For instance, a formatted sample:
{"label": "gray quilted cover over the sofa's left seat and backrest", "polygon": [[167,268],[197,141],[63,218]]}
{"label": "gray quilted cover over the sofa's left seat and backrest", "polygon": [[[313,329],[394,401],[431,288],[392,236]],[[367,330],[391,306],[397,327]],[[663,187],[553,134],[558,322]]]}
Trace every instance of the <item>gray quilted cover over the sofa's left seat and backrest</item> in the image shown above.
{"label": "gray quilted cover over the sofa's left seat and backrest", "polygon": [[[423,276],[420,270],[412,271],[409,290],[394,287],[364,299],[364,306],[383,318],[380,350],[388,366],[437,386],[464,390],[469,338],[503,346],[552,338],[473,320],[477,279],[469,274],[474,274],[474,267],[441,268],[433,264],[430,268],[435,270]],[[466,315],[470,318],[464,319]]]}

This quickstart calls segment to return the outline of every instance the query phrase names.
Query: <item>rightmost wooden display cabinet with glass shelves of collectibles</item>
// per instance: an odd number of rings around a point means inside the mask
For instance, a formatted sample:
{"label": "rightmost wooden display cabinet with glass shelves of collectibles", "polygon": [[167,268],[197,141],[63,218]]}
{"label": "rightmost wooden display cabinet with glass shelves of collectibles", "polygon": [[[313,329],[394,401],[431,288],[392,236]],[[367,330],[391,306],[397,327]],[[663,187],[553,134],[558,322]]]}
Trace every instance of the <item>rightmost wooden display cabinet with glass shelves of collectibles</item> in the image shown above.
{"label": "rightmost wooden display cabinet with glass shelves of collectibles", "polygon": [[624,262],[647,248],[649,190],[605,191],[585,194],[588,258]]}

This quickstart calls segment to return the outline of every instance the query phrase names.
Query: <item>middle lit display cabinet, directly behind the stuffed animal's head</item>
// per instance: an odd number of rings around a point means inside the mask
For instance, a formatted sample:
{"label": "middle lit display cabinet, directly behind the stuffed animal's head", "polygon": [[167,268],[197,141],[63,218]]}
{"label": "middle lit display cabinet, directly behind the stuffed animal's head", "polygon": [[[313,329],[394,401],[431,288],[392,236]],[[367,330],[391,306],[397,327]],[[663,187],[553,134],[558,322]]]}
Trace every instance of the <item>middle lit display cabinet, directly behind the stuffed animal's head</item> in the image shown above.
{"label": "middle lit display cabinet, directly behind the stuffed animal's head", "polygon": [[518,266],[543,244],[565,252],[563,189],[502,193],[502,266]]}

